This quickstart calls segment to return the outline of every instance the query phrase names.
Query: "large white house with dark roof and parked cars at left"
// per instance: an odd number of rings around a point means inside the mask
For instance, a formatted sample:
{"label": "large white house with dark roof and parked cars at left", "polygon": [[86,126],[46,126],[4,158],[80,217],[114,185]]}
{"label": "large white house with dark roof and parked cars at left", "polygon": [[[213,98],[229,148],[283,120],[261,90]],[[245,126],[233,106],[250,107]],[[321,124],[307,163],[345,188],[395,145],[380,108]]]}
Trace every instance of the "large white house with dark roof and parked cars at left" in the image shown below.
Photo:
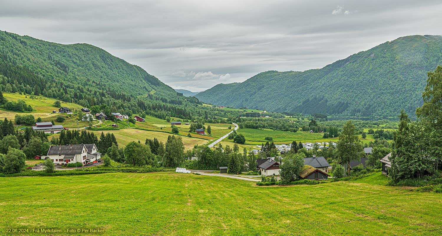
{"label": "large white house with dark roof and parked cars at left", "polygon": [[101,153],[97,151],[95,144],[68,144],[50,146],[46,158],[52,159],[54,164],[80,162],[85,165],[88,162],[100,159]]}

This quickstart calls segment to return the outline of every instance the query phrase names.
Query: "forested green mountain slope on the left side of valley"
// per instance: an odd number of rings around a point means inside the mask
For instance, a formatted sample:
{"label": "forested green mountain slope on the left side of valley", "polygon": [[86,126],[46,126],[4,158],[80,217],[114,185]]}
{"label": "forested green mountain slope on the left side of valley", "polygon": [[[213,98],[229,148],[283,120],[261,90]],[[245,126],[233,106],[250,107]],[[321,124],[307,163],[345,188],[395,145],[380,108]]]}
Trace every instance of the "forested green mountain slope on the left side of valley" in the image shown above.
{"label": "forested green mountain slope on the left side of valley", "polygon": [[50,43],[6,31],[0,31],[0,90],[162,118],[192,119],[208,112],[197,99],[96,46]]}

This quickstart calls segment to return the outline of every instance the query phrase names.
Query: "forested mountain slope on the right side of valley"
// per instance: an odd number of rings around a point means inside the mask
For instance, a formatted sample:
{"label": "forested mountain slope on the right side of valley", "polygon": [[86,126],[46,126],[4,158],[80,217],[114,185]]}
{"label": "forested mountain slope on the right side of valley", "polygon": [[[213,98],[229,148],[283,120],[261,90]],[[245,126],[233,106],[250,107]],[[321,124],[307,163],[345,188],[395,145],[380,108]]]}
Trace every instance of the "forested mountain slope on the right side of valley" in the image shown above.
{"label": "forested mountain slope on the right side of valley", "polygon": [[219,84],[203,102],[274,112],[397,116],[422,104],[427,72],[442,65],[442,36],[414,35],[383,43],[321,69],[267,71]]}

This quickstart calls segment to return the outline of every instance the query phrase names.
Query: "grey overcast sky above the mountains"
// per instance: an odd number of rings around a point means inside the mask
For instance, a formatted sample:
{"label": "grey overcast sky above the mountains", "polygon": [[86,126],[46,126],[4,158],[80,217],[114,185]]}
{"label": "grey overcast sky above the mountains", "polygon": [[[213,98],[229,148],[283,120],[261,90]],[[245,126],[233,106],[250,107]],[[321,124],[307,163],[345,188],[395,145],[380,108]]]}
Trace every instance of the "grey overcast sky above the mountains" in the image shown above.
{"label": "grey overcast sky above the mountains", "polygon": [[89,43],[196,92],[442,35],[441,10],[440,0],[0,0],[0,30]]}

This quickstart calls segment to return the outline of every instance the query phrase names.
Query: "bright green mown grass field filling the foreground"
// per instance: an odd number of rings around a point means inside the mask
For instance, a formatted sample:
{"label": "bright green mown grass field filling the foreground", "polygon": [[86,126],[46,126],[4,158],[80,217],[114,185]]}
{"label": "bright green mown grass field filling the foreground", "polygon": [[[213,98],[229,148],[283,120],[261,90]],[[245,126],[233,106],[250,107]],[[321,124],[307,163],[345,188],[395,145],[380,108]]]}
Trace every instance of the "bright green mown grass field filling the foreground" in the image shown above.
{"label": "bright green mown grass field filling the foreground", "polygon": [[51,234],[57,236],[93,235],[67,228],[101,228],[110,236],[442,234],[440,193],[385,182],[380,173],[271,187],[172,172],[0,178],[0,228],[61,229]]}

